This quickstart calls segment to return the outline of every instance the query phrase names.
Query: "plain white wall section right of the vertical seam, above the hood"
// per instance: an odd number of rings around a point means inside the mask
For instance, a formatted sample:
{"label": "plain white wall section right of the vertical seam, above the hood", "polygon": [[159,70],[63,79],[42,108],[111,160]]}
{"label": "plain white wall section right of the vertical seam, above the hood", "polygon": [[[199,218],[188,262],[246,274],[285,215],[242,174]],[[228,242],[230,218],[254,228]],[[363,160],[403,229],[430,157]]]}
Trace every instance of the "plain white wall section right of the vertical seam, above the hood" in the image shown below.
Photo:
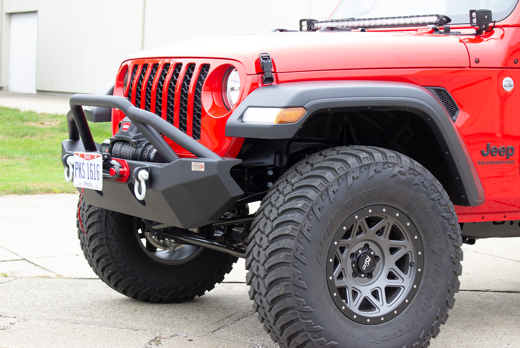
{"label": "plain white wall section right of the vertical seam, above the hood", "polygon": [[339,0],[146,0],[144,48],[193,37],[298,30],[300,19],[326,19]]}

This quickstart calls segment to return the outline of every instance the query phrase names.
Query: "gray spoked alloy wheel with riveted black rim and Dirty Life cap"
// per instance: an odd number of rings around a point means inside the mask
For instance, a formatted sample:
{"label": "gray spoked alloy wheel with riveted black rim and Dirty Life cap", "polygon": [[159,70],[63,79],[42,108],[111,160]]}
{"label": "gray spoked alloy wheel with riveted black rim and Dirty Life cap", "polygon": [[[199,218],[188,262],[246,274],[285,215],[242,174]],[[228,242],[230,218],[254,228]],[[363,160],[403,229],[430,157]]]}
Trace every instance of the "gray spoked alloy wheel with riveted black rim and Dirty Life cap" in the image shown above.
{"label": "gray spoked alloy wheel with riveted black rim and Dirty Life cap", "polygon": [[360,324],[398,316],[421,282],[423,248],[405,213],[388,206],[357,211],[340,226],[327,259],[338,309]]}

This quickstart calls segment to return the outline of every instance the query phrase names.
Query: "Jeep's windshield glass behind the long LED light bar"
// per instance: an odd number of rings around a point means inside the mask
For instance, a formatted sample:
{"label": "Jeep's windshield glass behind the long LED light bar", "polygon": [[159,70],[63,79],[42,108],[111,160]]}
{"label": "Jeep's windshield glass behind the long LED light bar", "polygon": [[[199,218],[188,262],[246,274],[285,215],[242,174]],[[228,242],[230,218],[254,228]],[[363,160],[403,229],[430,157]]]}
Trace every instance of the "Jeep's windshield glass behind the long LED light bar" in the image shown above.
{"label": "Jeep's windshield glass behind the long LED light bar", "polygon": [[330,19],[444,15],[450,24],[469,24],[470,10],[491,10],[494,21],[508,17],[518,0],[342,0]]}

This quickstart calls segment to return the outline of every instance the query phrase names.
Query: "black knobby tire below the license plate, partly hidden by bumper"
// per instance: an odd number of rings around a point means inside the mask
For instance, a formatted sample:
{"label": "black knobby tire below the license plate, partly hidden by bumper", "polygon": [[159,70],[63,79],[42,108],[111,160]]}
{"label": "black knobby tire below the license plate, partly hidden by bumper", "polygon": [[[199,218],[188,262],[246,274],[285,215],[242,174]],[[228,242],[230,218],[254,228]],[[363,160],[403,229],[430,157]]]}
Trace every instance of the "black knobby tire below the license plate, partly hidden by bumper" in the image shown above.
{"label": "black knobby tire below the license plate, partly hidden by bumper", "polygon": [[[194,246],[148,251],[136,234],[136,219],[78,202],[77,233],[88,264],[103,282],[146,302],[180,302],[204,295],[224,280],[238,259]],[[157,250],[157,249],[155,249]],[[177,254],[176,254],[177,253]]]}

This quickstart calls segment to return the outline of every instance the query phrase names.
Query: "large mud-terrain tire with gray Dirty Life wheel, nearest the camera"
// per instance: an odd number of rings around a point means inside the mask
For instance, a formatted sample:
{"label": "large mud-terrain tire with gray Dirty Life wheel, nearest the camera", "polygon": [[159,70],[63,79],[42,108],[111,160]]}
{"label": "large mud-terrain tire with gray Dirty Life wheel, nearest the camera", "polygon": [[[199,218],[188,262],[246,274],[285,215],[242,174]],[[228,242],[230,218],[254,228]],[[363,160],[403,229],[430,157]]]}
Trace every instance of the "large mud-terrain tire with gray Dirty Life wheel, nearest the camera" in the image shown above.
{"label": "large mud-terrain tire with gray Dirty Life wheel, nearest the camera", "polygon": [[462,239],[440,183],[364,146],[294,165],[256,213],[246,269],[282,347],[426,347],[459,290]]}

